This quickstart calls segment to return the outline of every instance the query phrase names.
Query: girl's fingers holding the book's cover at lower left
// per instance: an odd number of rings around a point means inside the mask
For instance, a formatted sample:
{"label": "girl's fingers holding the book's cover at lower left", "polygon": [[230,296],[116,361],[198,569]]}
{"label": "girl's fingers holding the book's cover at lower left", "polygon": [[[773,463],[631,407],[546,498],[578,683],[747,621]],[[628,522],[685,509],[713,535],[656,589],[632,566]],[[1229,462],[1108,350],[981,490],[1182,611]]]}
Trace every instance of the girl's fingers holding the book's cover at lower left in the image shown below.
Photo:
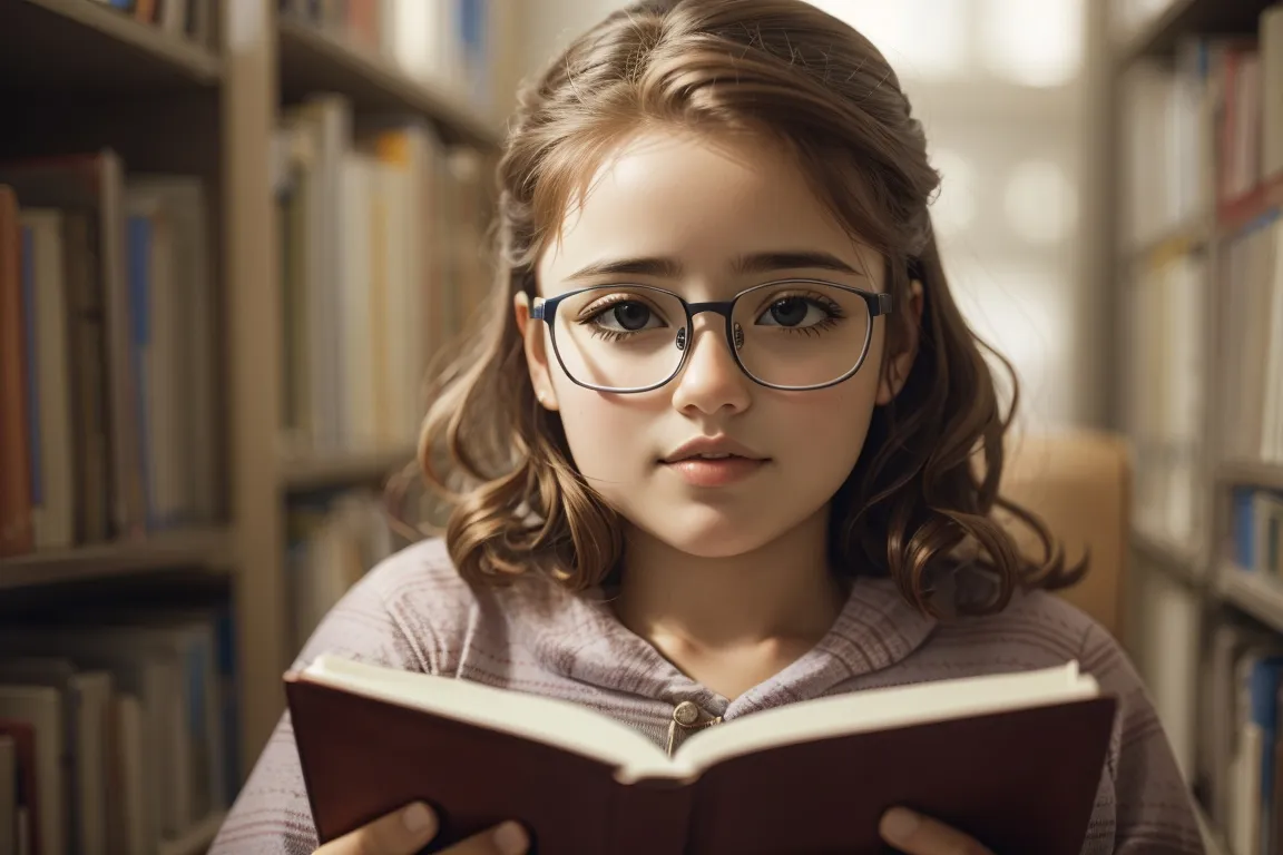
{"label": "girl's fingers holding the book's cover at lower left", "polygon": [[[332,840],[313,855],[414,855],[436,836],[436,815],[413,804]],[[502,823],[450,846],[441,855],[523,855],[530,838],[517,823]]]}

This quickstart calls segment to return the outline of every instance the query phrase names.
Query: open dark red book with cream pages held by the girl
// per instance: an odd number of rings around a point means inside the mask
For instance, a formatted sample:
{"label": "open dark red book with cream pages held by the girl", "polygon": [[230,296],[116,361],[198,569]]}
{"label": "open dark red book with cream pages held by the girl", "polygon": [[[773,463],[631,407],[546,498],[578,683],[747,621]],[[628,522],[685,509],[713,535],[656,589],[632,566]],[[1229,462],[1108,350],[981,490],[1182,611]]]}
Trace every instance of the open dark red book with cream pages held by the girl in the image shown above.
{"label": "open dark red book with cream pages held by the girl", "polygon": [[334,656],[285,676],[321,841],[411,800],[443,849],[517,819],[540,852],[881,852],[896,804],[996,852],[1076,855],[1115,701],[1076,663],[763,710],[668,758],[561,700]]}

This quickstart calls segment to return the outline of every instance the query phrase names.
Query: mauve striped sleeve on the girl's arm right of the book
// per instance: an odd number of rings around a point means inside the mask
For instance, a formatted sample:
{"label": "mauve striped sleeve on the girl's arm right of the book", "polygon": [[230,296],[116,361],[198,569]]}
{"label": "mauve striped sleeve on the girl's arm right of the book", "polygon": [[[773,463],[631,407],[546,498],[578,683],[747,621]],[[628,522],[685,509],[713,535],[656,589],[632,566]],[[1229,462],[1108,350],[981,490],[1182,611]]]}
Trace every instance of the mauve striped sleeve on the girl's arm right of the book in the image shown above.
{"label": "mauve striped sleeve on the girl's arm right of the book", "polygon": [[1203,855],[1189,786],[1139,674],[1114,637],[1092,624],[1079,661],[1117,697],[1114,736],[1084,855]]}

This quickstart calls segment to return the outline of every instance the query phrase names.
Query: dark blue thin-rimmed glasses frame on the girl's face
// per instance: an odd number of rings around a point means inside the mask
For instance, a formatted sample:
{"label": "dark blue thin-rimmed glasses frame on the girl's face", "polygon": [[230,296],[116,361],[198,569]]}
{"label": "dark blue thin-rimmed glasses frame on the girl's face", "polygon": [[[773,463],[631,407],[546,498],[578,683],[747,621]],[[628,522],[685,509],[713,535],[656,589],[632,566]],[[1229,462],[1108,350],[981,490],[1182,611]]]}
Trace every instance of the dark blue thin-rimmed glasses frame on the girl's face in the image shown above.
{"label": "dark blue thin-rimmed glasses frame on the girl's face", "polygon": [[[869,323],[869,327],[865,329],[865,344],[863,344],[863,346],[860,350],[860,359],[856,360],[856,364],[854,364],[854,367],[852,367],[851,370],[848,370],[845,374],[843,374],[842,377],[839,377],[837,379],[829,381],[826,383],[816,383],[813,386],[780,386],[777,383],[767,383],[766,381],[761,379],[760,377],[756,377],[753,374],[753,372],[748,370],[748,367],[744,365],[743,360],[740,360],[740,358],[739,358],[739,347],[740,347],[742,342],[736,344],[736,341],[735,341],[735,329],[734,329],[735,324],[731,322],[731,318],[734,318],[735,305],[743,297],[745,297],[745,296],[748,296],[748,295],[751,295],[751,294],[753,294],[756,291],[761,291],[762,288],[772,288],[772,287],[777,287],[777,286],[781,286],[781,285],[822,285],[825,287],[838,288],[840,291],[847,291],[849,294],[854,294],[856,296],[861,297],[865,301],[865,305],[869,308],[869,319],[870,319],[870,323]],[[692,347],[689,346],[689,342],[688,342],[688,345],[677,344],[676,345],[677,349],[681,350],[681,360],[677,363],[677,367],[674,368],[674,370],[672,370],[671,374],[668,374],[666,378],[663,378],[662,381],[659,381],[658,383],[654,383],[652,386],[642,386],[642,387],[636,387],[636,388],[634,388],[634,387],[615,387],[615,386],[598,386],[595,383],[585,383],[585,382],[580,381],[566,367],[566,360],[562,359],[561,349],[557,345],[557,324],[553,323],[553,320],[557,318],[557,306],[559,306],[562,304],[562,301],[566,300],[566,299],[568,299],[568,297],[574,297],[574,296],[580,295],[580,294],[586,294],[588,291],[600,291],[603,288],[611,288],[611,287],[638,288],[640,291],[650,291],[650,292],[654,292],[654,294],[662,294],[665,296],[672,297],[674,300],[676,300],[677,303],[681,304],[681,308],[686,313],[686,326],[684,327],[684,329],[689,331],[688,336],[693,336],[694,335],[695,315],[703,314],[704,311],[713,311],[716,314],[720,314],[725,319],[725,322],[726,322],[725,324],[722,324],[725,327],[725,329],[726,329],[726,347],[730,350],[731,356],[734,356],[735,364],[739,365],[739,369],[742,372],[744,372],[744,376],[748,377],[754,383],[757,383],[758,386],[765,386],[766,388],[774,388],[774,390],[780,390],[780,391],[785,391],[785,392],[810,392],[810,391],[815,391],[815,390],[820,390],[820,388],[829,388],[830,386],[837,386],[838,383],[845,382],[845,381],[851,379],[852,377],[854,377],[856,372],[858,372],[860,368],[865,364],[865,359],[869,358],[869,345],[870,345],[870,342],[872,342],[872,336],[874,336],[872,319],[874,318],[885,317],[885,315],[889,315],[892,313],[892,295],[890,294],[887,294],[887,292],[883,292],[883,291],[866,291],[863,288],[853,288],[851,286],[839,285],[838,282],[829,282],[826,279],[808,279],[808,278],[788,278],[788,279],[772,279],[771,282],[762,282],[761,285],[754,285],[751,288],[745,288],[745,290],[740,291],[739,294],[736,294],[730,300],[713,301],[713,303],[686,303],[686,300],[680,294],[674,294],[672,291],[668,291],[667,288],[659,288],[659,287],[656,287],[656,286],[652,286],[652,285],[627,285],[627,286],[622,286],[622,285],[621,286],[594,285],[594,286],[589,286],[586,288],[576,288],[575,291],[567,291],[566,294],[558,294],[556,297],[535,297],[531,301],[530,318],[532,320],[543,320],[544,323],[548,324],[548,331],[549,331],[549,335],[552,336],[552,340],[553,340],[553,353],[557,355],[558,364],[561,364],[562,370],[566,373],[567,377],[570,377],[571,382],[575,383],[576,386],[582,386],[584,388],[590,388],[590,390],[597,391],[597,392],[612,392],[612,394],[617,394],[617,395],[635,395],[635,394],[639,394],[639,392],[652,392],[652,391],[654,391],[657,388],[662,388],[663,386],[667,386],[668,383],[672,382],[672,379],[677,374],[681,373],[681,369],[686,367],[686,360],[690,356]],[[680,338],[680,333],[679,333],[679,338]]]}

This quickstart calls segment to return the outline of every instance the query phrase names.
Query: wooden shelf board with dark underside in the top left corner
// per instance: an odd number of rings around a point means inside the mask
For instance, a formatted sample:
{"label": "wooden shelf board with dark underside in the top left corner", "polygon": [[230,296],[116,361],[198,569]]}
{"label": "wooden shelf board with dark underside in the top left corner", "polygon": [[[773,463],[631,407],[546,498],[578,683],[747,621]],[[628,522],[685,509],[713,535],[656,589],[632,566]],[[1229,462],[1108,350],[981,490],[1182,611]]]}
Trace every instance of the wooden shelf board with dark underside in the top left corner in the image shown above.
{"label": "wooden shelf board with dark underside in the top left corner", "polygon": [[212,51],[103,3],[0,0],[0,88],[154,94],[221,78]]}

